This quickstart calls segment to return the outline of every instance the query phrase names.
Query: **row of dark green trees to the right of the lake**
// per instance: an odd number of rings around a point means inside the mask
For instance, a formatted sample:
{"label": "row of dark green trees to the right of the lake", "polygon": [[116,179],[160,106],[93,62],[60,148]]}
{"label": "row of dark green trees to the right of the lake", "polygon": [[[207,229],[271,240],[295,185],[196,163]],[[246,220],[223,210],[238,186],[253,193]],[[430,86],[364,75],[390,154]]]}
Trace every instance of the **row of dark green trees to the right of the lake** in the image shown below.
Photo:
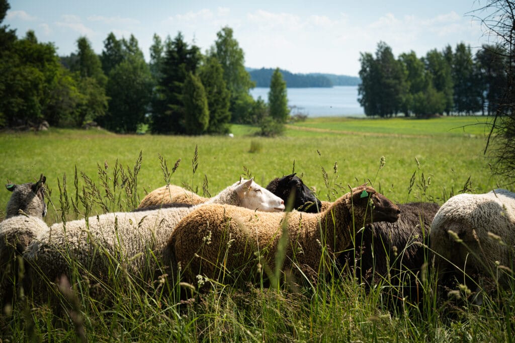
{"label": "row of dark green trees to the right of the lake", "polygon": [[361,53],[358,101],[367,116],[495,114],[507,82],[506,56],[501,45],[484,45],[473,55],[459,43],[454,50],[448,45],[424,57],[411,51],[396,59],[379,42],[375,56]]}

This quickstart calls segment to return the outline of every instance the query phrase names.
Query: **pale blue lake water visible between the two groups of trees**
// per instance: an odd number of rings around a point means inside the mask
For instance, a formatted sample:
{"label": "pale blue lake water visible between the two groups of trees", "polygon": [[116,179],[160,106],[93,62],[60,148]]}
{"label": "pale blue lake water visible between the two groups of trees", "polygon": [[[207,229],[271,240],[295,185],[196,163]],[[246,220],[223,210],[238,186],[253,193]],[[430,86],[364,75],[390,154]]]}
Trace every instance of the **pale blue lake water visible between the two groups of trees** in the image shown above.
{"label": "pale blue lake water visible between the two groups of trees", "polygon": [[[268,101],[269,88],[254,88],[250,95]],[[353,116],[364,117],[363,107],[357,101],[357,86],[332,88],[288,88],[288,106],[295,106],[291,114],[305,113],[310,117]]]}

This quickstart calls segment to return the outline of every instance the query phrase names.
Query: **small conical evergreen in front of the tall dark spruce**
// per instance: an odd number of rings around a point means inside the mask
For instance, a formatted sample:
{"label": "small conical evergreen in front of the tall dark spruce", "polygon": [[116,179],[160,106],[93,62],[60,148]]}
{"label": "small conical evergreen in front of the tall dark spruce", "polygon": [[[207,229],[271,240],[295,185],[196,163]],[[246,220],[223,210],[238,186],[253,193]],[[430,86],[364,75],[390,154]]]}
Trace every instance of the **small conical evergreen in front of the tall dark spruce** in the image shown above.
{"label": "small conical evergreen in front of the tall dark spruce", "polygon": [[202,134],[209,126],[208,99],[200,79],[192,72],[186,75],[183,87],[184,121],[187,134]]}

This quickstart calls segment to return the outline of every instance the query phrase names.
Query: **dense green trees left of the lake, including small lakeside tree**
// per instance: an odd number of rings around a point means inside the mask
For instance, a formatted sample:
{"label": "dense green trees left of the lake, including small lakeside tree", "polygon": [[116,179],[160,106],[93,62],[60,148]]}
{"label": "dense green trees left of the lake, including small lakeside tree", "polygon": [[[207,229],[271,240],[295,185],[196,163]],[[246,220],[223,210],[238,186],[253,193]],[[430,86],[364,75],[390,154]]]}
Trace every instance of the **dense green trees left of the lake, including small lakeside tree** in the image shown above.
{"label": "dense green trees left of the lake, including small lakeside tree", "polygon": [[[0,24],[8,9],[0,0]],[[79,37],[76,52],[59,57],[55,46],[38,42],[33,31],[18,39],[8,26],[0,26],[0,43],[0,127],[94,122],[120,133],[148,126],[152,133],[224,134],[230,123],[242,123],[261,125],[263,134],[273,135],[286,122],[277,106],[250,95],[255,83],[230,27],[217,32],[205,54],[181,32],[164,40],[155,34],[148,63],[133,35],[118,39],[112,32],[100,55]],[[282,81],[279,71],[278,77]],[[269,100],[287,104],[286,98],[273,97],[286,97],[285,85],[282,92],[282,83],[276,84]]]}

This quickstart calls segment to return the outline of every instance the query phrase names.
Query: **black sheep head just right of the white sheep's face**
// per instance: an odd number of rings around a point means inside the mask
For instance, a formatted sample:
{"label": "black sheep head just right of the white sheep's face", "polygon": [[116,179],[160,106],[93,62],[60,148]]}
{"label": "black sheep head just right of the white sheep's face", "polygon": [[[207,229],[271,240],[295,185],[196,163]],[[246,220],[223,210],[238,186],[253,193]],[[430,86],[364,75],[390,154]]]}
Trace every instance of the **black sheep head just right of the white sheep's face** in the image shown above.
{"label": "black sheep head just right of the white sheep's face", "polygon": [[[279,196],[286,203],[293,201],[294,209],[308,213],[317,213],[320,210],[322,206],[320,200],[295,174],[283,176],[272,182],[276,182],[272,193]],[[267,189],[271,191],[268,186]]]}

